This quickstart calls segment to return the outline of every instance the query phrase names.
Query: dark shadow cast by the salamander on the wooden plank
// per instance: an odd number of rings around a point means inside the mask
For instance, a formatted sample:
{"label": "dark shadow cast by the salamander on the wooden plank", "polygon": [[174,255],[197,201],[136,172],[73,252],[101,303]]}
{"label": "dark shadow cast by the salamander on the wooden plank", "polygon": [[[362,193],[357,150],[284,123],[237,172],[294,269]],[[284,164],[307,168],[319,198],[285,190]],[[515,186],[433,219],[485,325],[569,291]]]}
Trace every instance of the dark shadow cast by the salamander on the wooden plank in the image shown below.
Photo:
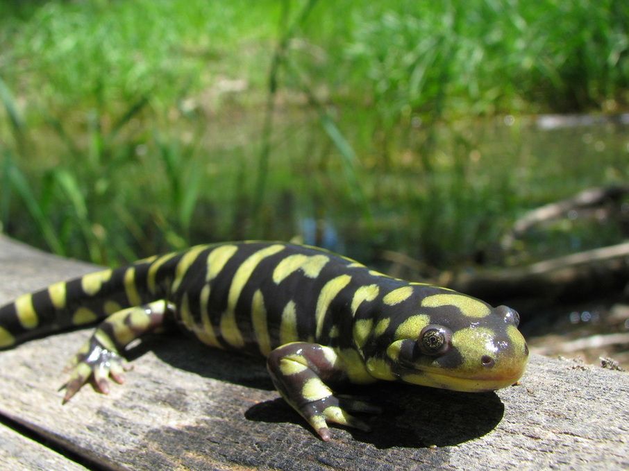
{"label": "dark shadow cast by the salamander on the wooden plank", "polygon": [[[185,357],[178,353],[183,345]],[[132,357],[149,349],[159,359],[179,370],[278,395],[274,392],[265,362],[258,357],[208,349],[185,335],[148,339],[131,352]],[[349,385],[339,392],[360,395],[383,406],[383,414],[371,418],[371,433],[348,429],[355,440],[382,449],[459,445],[489,433],[504,413],[504,406],[495,393],[456,393],[387,382],[362,388]],[[176,397],[171,397],[169,402],[176,400]],[[244,417],[267,425],[296,424],[312,433],[305,421],[281,398],[249,407]],[[312,436],[317,437],[314,433]]]}

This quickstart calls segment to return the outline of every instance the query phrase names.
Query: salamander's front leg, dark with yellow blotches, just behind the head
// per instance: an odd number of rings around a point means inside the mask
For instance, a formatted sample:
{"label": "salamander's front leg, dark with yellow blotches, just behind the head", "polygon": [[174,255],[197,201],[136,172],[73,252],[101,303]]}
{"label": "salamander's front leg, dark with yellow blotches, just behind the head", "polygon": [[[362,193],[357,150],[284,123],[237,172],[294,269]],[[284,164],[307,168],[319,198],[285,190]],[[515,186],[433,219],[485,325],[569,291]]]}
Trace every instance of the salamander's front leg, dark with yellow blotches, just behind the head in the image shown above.
{"label": "salamander's front leg, dark with yellow blotches, just behind the head", "polygon": [[379,413],[380,408],[349,396],[335,395],[326,382],[344,379],[343,362],[333,348],[316,343],[287,343],[273,350],[267,368],[278,392],[308,421],[317,434],[330,440],[328,422],[370,431],[351,413]]}

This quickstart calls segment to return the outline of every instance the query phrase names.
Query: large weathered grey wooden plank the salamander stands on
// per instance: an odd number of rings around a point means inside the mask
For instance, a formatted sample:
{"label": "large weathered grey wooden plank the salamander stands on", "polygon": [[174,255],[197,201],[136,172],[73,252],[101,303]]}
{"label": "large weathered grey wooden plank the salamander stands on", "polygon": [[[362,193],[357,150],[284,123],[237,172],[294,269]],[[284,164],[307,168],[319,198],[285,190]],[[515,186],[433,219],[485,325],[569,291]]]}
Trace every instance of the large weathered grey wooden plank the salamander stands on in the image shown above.
{"label": "large weathered grey wooden plank the salamander stands on", "polygon": [[[0,302],[88,267],[0,238]],[[323,443],[259,361],[186,337],[153,337],[109,396],[61,405],[62,366],[87,330],[0,352],[0,413],[118,469],[629,467],[629,375],[532,356],[521,386],[487,394],[381,384],[374,431]],[[0,447],[3,445],[0,445]],[[25,464],[26,465],[26,464]]]}

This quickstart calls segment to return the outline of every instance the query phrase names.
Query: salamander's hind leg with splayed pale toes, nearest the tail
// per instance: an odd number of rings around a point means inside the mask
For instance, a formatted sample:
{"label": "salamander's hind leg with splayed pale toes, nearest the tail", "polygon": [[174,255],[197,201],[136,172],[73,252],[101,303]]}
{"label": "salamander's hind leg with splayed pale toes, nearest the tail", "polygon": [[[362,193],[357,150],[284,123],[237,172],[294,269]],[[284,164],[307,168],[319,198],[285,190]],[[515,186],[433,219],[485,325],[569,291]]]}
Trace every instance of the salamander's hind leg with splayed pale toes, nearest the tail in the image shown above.
{"label": "salamander's hind leg with splayed pale toes, nearest the tail", "polygon": [[160,300],[122,309],[103,320],[69,364],[72,372],[62,386],[64,404],[90,380],[104,394],[109,393],[109,377],[122,384],[124,371],[131,368],[121,353],[133,340],[158,329],[171,309],[171,305]]}

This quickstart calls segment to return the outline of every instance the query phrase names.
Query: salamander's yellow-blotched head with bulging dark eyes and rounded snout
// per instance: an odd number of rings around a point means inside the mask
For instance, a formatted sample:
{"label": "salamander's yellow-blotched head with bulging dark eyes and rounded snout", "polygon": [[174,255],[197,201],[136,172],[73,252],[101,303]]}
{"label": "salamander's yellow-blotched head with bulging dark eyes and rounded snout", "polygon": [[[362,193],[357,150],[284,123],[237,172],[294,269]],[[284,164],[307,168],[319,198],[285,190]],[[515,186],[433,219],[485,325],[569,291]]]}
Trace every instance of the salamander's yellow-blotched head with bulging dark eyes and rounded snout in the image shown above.
{"label": "salamander's yellow-blotched head with bulging dark eyes and rounded snout", "polygon": [[387,340],[379,365],[388,377],[406,383],[453,391],[494,391],[521,377],[528,348],[517,329],[519,315],[506,306],[492,308],[459,293],[437,293],[421,299],[415,315],[399,323]]}

